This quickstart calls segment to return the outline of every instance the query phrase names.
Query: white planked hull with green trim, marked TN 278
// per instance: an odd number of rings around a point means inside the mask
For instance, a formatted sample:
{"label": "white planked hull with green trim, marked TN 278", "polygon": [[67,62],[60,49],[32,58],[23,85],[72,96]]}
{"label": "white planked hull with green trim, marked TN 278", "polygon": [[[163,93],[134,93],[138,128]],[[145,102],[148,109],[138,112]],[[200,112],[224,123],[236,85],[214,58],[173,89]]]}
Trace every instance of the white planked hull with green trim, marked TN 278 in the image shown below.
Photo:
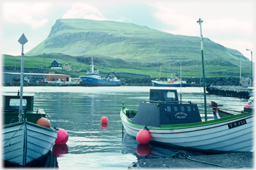
{"label": "white planked hull with green trim, marked TN 278", "polygon": [[[136,137],[144,126],[131,123],[123,110],[120,116],[125,131]],[[250,113],[194,124],[147,128],[152,142],[165,145],[208,151],[253,151],[253,114]]]}

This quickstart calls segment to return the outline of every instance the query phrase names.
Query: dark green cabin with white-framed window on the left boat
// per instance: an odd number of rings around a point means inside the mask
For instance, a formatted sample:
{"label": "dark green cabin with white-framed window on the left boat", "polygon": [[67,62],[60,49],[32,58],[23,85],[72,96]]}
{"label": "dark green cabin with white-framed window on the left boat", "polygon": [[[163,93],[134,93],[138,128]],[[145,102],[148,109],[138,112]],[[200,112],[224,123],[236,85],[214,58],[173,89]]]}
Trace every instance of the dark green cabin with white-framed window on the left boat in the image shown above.
{"label": "dark green cabin with white-framed window on the left boat", "polygon": [[[24,119],[28,122],[36,123],[39,118],[45,118],[45,112],[34,108],[34,94],[23,94],[22,108]],[[11,124],[19,121],[20,96],[18,93],[3,94],[3,124]]]}

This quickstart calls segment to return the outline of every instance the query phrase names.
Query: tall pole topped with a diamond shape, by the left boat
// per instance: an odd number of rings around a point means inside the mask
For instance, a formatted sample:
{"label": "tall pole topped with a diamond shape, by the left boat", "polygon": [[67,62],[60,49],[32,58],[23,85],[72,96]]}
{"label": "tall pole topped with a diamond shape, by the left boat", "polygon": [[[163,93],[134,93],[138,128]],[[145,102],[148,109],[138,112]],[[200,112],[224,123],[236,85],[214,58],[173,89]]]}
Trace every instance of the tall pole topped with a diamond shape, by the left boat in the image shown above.
{"label": "tall pole topped with a diamond shape, by the left boat", "polygon": [[21,84],[21,90],[20,90],[20,97],[19,97],[19,122],[23,121],[23,82],[24,82],[24,78],[23,78],[23,72],[24,72],[24,66],[23,66],[23,45],[27,42],[27,38],[25,37],[25,35],[21,35],[21,37],[19,38],[18,42],[21,44],[21,80],[20,80],[20,84]]}

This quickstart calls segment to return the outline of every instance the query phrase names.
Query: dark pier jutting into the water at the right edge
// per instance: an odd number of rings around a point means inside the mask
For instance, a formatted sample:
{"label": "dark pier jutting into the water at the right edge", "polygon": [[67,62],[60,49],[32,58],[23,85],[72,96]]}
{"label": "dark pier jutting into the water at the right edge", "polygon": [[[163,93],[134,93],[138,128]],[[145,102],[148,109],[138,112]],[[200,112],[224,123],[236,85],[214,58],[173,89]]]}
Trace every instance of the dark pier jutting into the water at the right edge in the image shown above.
{"label": "dark pier jutting into the water at the right edge", "polygon": [[215,94],[217,96],[233,97],[233,98],[246,98],[254,96],[254,87],[246,86],[209,86],[206,88],[208,94]]}

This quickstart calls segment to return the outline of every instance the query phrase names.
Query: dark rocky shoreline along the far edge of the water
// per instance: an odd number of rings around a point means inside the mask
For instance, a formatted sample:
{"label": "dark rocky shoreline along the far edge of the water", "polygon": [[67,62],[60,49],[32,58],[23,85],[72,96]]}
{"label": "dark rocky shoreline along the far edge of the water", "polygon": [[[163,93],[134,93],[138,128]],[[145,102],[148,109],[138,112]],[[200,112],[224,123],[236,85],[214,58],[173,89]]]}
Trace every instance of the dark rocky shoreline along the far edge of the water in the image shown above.
{"label": "dark rocky shoreline along the far edge of the water", "polygon": [[[152,86],[151,80],[155,78],[120,78],[122,86]],[[166,78],[163,78],[166,81]],[[187,87],[202,87],[203,78],[183,78],[187,81]],[[20,86],[19,82],[3,82],[3,86]],[[69,83],[46,83],[46,82],[24,82],[23,86],[85,86],[81,84]],[[239,78],[217,77],[205,78],[205,86],[239,86]]]}

